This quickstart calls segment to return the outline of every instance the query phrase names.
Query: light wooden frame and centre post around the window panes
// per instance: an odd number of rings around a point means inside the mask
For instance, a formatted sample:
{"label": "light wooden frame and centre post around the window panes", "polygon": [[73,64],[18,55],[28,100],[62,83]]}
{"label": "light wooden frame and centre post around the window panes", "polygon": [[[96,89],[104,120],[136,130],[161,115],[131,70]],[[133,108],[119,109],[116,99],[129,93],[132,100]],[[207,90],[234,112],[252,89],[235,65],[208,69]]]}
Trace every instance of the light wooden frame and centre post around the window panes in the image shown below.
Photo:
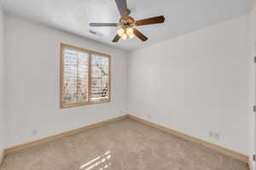
{"label": "light wooden frame and centre post around the window panes", "polygon": [[[88,98],[89,101],[88,102],[77,102],[77,103],[73,103],[73,104],[65,104],[64,102],[62,102],[62,88],[63,88],[63,79],[64,79],[64,68],[63,68],[63,64],[64,64],[64,60],[63,60],[63,50],[65,48],[70,48],[73,50],[77,50],[80,52],[84,52],[86,54],[89,54],[89,71],[88,71]],[[109,84],[109,88],[108,88],[108,99],[102,99],[100,101],[90,101],[90,88],[91,88],[91,55],[95,54],[97,56],[101,56],[101,57],[106,57],[108,58],[108,84]],[[77,106],[82,106],[82,105],[94,105],[94,104],[102,104],[102,103],[109,103],[111,101],[111,55],[109,54],[102,54],[96,51],[92,51],[89,49],[84,49],[84,48],[78,48],[72,45],[67,45],[65,43],[61,43],[61,50],[60,50],[60,108],[61,109],[66,109],[66,108],[70,108],[70,107],[77,107]]]}

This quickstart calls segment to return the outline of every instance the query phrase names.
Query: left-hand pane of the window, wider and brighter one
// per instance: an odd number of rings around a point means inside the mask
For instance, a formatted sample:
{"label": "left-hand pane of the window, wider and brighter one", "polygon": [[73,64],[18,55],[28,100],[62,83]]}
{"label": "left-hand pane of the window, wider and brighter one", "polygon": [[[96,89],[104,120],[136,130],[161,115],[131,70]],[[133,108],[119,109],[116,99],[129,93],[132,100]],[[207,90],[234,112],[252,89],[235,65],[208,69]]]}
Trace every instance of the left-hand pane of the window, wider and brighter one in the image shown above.
{"label": "left-hand pane of the window, wider and brighter one", "polygon": [[88,101],[89,54],[66,48],[63,53],[62,102]]}

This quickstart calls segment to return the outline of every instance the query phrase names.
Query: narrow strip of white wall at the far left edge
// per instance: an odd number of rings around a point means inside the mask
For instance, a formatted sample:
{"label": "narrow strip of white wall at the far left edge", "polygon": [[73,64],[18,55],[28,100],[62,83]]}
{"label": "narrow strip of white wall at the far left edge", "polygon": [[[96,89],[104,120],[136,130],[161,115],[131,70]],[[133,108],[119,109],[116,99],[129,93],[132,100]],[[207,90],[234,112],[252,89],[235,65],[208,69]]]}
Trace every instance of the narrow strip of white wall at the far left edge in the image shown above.
{"label": "narrow strip of white wall at the far left edge", "polygon": [[3,147],[4,147],[4,119],[5,119],[5,57],[3,53],[3,8],[0,1],[0,164],[3,159]]}

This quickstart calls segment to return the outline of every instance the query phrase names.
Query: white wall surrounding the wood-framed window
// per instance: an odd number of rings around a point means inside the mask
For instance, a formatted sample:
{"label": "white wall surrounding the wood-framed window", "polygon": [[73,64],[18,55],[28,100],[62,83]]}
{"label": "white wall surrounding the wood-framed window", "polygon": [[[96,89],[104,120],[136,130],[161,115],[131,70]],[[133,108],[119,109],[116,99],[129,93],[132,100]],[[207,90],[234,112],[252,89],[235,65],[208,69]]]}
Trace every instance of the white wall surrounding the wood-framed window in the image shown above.
{"label": "white wall surrounding the wood-framed window", "polygon": [[[60,42],[112,55],[112,101],[59,109]],[[22,144],[125,111],[127,53],[13,15],[6,17],[8,141]],[[32,130],[38,134],[33,136]]]}

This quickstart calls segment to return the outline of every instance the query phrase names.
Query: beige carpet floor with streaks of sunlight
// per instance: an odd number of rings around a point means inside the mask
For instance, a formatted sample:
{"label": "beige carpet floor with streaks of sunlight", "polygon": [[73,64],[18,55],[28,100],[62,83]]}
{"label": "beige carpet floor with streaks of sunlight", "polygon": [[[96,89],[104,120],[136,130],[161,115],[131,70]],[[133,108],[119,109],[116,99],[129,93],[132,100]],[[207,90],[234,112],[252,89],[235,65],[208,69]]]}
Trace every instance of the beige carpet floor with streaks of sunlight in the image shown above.
{"label": "beige carpet floor with streaks of sunlight", "polygon": [[247,170],[246,163],[125,119],[7,156],[0,170]]}

